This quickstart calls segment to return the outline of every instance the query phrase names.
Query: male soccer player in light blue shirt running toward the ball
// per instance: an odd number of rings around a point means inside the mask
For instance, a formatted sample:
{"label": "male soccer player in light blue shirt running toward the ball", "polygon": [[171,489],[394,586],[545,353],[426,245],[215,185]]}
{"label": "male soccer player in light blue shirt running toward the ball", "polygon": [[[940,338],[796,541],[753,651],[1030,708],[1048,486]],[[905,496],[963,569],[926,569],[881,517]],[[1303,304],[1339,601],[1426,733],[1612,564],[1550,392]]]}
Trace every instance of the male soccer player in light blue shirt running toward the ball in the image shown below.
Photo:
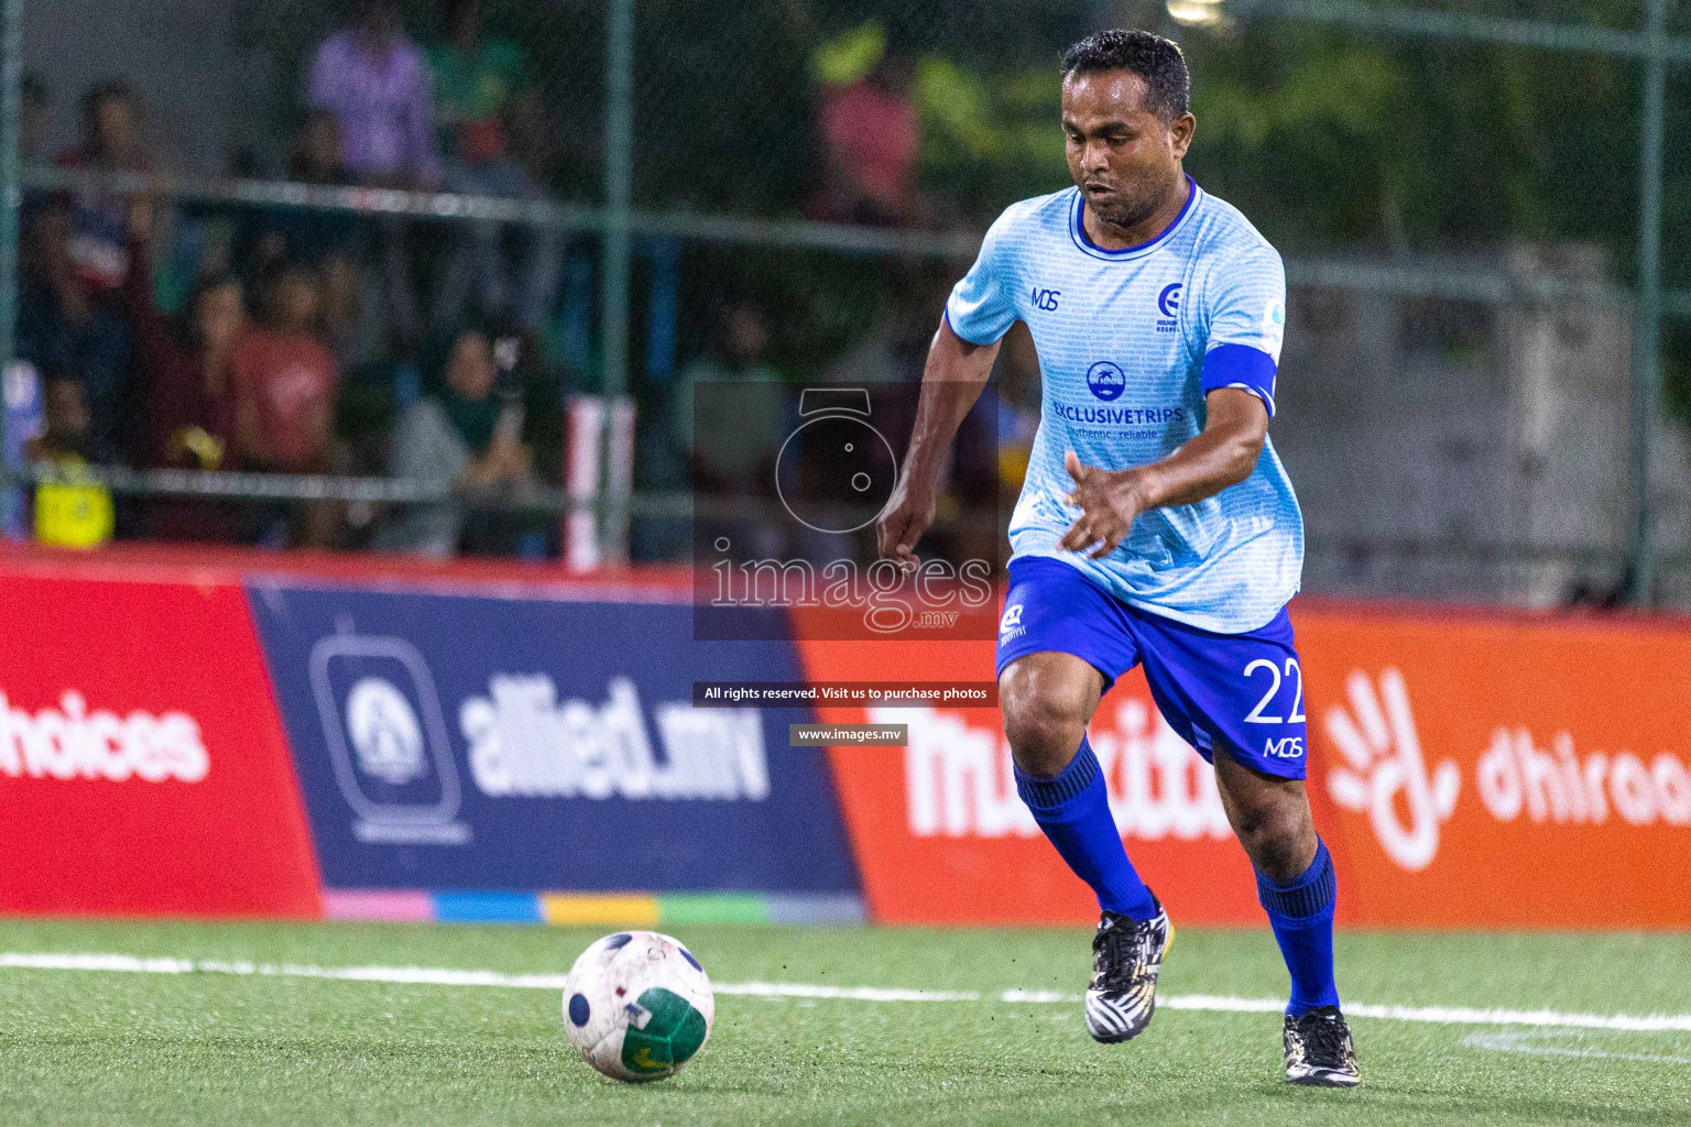
{"label": "male soccer player in light blue shirt running toward the ball", "polygon": [[1280,255],[1182,171],[1180,49],[1106,30],[1062,61],[1074,188],[1013,204],[952,289],[879,549],[915,566],[935,475],[1011,323],[1033,333],[1038,436],[1010,520],[998,684],[1016,789],[1097,894],[1086,1024],[1150,1024],[1168,916],[1109,814],[1086,727],[1145,666],[1157,708],[1214,764],[1292,972],[1285,1075],[1360,1078],[1333,982],[1333,860],[1304,794],[1304,681],[1285,603],[1304,525],[1268,441],[1285,328]]}

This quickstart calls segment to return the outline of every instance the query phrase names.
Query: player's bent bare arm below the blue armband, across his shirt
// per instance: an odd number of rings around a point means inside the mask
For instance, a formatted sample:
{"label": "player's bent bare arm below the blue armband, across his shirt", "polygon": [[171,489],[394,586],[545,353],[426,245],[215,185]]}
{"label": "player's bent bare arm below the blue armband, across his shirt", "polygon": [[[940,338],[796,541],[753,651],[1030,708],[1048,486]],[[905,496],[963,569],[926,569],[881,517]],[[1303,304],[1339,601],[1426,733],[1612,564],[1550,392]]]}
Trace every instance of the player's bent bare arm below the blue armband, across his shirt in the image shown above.
{"label": "player's bent bare arm below the blue armband, across his shirt", "polygon": [[1062,547],[1103,559],[1116,551],[1141,512],[1192,505],[1248,478],[1268,438],[1268,409],[1236,387],[1209,392],[1204,407],[1207,419],[1197,438],[1143,466],[1099,470],[1082,465],[1070,449],[1064,468],[1074,478],[1074,490],[1064,500],[1079,507],[1081,517],[1069,525]]}

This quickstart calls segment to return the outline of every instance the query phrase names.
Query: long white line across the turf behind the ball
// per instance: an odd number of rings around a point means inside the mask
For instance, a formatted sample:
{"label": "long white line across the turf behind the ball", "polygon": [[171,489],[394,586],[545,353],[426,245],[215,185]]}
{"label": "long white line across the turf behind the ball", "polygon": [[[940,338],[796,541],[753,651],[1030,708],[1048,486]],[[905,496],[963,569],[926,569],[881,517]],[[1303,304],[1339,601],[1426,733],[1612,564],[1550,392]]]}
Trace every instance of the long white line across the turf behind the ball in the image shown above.
{"label": "long white line across the turf behind the ball", "polygon": [[[335,978],[343,982],[387,982],[431,987],[516,987],[561,990],[565,975],[507,975],[497,970],[453,970],[443,966],[311,966],[298,963],[247,963],[225,960],[147,958],[137,955],[0,953],[0,968],[91,970],[140,975],[255,975],[274,978]],[[852,1002],[1010,1002],[1023,1005],[1074,1005],[1079,994],[1052,990],[900,990],[888,987],[824,987],[795,982],[719,982],[717,994],[764,999],[844,999]],[[1285,1002],[1207,994],[1160,995],[1157,1004],[1172,1010],[1216,1014],[1278,1014]],[[1529,1026],[1562,1029],[1615,1029],[1623,1032],[1691,1032],[1691,1014],[1562,1014],[1557,1010],[1473,1009],[1463,1005],[1368,1005],[1346,1002],[1348,1017],[1426,1022],[1436,1026]]]}

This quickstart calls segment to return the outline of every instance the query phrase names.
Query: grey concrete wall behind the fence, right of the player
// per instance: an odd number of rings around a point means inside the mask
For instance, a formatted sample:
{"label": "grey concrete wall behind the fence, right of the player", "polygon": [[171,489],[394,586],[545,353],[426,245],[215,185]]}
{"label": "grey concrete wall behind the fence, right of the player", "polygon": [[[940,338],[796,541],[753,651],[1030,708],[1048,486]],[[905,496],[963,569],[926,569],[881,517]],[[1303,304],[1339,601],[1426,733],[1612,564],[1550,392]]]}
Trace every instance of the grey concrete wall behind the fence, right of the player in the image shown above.
{"label": "grey concrete wall behind the fence, right of the player", "polygon": [[[1583,248],[1480,265],[1603,277]],[[1542,607],[1618,583],[1613,561],[1485,547],[1623,551],[1628,343],[1615,308],[1294,291],[1273,438],[1309,524],[1305,590]]]}

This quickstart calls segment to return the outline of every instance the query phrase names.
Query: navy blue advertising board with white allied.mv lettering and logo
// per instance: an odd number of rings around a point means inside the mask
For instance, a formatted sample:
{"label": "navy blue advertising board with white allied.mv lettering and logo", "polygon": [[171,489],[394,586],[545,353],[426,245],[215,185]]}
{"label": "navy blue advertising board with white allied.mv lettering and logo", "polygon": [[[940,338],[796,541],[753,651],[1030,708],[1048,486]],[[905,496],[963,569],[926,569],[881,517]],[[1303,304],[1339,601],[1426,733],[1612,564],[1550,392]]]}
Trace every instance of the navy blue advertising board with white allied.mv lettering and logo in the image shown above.
{"label": "navy blue advertising board with white allied.mv lettering and logo", "polygon": [[330,889],[859,887],[820,749],[786,745],[808,710],[692,703],[800,679],[790,640],[695,642],[687,603],[247,593]]}

